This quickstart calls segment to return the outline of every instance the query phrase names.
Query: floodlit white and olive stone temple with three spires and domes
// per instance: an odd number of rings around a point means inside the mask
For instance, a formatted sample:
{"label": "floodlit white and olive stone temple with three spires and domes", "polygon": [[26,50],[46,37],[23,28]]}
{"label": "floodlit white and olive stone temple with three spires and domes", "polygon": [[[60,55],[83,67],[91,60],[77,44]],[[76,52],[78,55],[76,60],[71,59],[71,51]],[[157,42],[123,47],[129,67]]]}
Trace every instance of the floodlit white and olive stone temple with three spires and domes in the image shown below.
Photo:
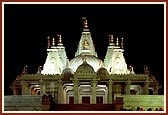
{"label": "floodlit white and olive stone temple with three spires and domes", "polygon": [[58,43],[48,37],[47,57],[36,74],[27,73],[28,66],[13,81],[13,95],[50,93],[58,104],[112,104],[117,96],[158,95],[159,84],[144,67],[143,74],[134,73],[127,65],[123,38],[109,36],[104,60],[98,58],[87,19],[73,59],[68,59],[61,35]]}

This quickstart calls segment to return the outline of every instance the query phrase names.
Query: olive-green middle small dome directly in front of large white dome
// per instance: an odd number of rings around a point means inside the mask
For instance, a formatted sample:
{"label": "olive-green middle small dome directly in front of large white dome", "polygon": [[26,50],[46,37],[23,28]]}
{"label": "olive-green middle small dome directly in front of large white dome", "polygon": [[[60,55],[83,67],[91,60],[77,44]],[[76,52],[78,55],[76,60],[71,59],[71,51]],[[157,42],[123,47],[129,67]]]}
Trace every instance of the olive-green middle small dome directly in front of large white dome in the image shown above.
{"label": "olive-green middle small dome directly in front of large white dome", "polygon": [[86,61],[84,61],[76,70],[77,73],[94,73],[93,67],[91,67]]}

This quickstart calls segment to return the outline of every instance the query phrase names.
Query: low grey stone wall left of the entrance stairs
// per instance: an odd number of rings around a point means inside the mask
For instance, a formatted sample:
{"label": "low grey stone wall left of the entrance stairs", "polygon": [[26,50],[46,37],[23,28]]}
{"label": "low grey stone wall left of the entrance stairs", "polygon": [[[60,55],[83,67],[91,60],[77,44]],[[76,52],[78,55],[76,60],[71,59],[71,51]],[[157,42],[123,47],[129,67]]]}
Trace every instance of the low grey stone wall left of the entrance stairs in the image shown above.
{"label": "low grey stone wall left of the entrance stairs", "polygon": [[4,111],[41,111],[41,96],[4,96]]}

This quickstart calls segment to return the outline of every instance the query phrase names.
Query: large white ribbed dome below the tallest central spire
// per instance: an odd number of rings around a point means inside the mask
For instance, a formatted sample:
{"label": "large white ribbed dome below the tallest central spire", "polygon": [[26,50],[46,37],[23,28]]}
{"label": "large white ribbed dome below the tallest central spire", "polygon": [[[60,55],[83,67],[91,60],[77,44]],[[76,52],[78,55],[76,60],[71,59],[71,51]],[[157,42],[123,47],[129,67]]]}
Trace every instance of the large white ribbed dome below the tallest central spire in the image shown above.
{"label": "large white ribbed dome below the tallest central spire", "polygon": [[94,55],[78,55],[70,60],[70,68],[75,72],[84,60],[94,69],[94,72],[102,66],[102,61]]}

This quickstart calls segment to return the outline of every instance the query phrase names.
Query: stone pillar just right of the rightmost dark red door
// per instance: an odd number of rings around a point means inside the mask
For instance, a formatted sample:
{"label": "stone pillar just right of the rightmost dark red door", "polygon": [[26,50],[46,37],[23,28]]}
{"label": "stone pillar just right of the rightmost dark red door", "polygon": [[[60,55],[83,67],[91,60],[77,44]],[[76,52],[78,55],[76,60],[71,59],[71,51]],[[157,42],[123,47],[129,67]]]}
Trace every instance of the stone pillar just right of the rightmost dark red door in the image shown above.
{"label": "stone pillar just right of the rightmost dark red door", "polygon": [[113,96],[112,96],[112,93],[113,93],[113,81],[110,79],[108,81],[108,103],[109,104],[112,104],[113,103]]}

